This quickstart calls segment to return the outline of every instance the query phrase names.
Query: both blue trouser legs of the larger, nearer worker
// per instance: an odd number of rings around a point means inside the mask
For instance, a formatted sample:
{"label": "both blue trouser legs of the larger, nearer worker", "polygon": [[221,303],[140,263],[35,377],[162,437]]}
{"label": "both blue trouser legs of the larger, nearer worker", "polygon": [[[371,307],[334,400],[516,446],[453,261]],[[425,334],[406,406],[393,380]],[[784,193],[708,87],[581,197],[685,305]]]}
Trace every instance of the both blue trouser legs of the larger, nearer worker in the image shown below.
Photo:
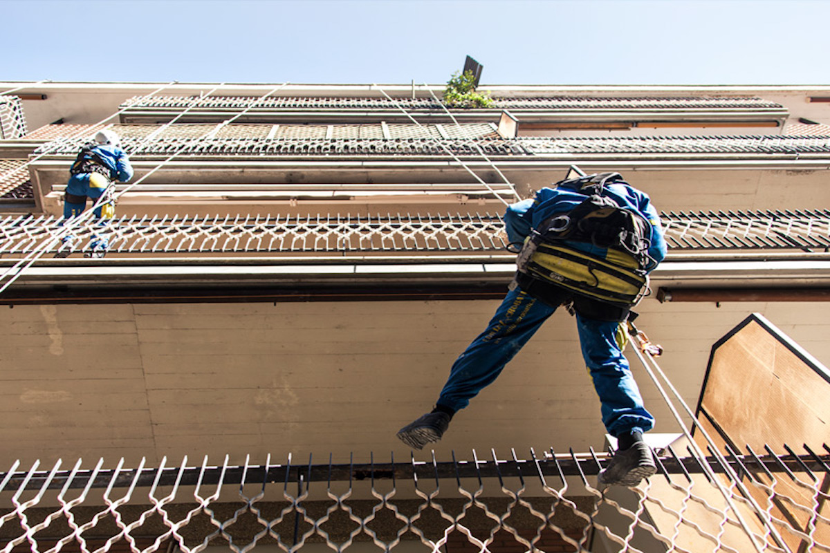
{"label": "both blue trouser legs of the larger, nearer worker", "polygon": [[[505,365],[539,330],[555,307],[515,288],[507,293],[484,332],[461,353],[437,401],[460,410],[485,386],[496,380]],[[579,343],[588,371],[602,403],[605,428],[613,436],[632,430],[646,432],[654,418],[642,405],[642,396],[628,361],[621,324],[576,314]]]}

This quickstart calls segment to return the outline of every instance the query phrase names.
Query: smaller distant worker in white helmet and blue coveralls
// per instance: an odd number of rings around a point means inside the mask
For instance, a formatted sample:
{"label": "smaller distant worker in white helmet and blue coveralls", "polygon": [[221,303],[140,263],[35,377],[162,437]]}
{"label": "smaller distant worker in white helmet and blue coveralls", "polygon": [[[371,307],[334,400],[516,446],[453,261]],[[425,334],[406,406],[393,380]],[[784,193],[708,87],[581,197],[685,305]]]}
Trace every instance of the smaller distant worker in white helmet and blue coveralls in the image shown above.
{"label": "smaller distant worker in white helmet and blue coveralls", "polygon": [[[101,196],[108,198],[112,193],[111,185],[115,181],[127,182],[133,177],[133,167],[129,164],[129,157],[120,148],[118,134],[111,130],[102,130],[95,134],[95,142],[85,144],[81,152],[72,163],[71,177],[66,184],[66,194],[63,200],[64,221],[81,215],[86,209],[86,198],[93,202]],[[95,219],[99,225],[106,226],[115,216],[115,206],[112,199],[106,199],[95,208]],[[55,257],[66,257],[72,253],[76,237],[66,235],[63,244]],[[86,257],[104,257],[109,240],[103,229],[92,235],[90,250]]]}

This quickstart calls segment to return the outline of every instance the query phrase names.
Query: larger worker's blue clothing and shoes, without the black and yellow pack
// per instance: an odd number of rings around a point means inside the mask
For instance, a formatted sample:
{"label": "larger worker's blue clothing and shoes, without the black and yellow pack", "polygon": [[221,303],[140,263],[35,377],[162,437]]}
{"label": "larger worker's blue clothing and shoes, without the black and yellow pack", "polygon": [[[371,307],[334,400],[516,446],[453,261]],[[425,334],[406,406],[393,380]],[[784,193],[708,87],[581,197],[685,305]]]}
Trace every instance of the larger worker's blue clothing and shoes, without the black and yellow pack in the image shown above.
{"label": "larger worker's blue clothing and shoes, without the black and yellow pack", "polygon": [[[608,177],[610,175],[614,177]],[[567,215],[586,200],[587,192],[579,189],[582,186],[580,182],[592,178],[593,182],[597,182],[599,177],[607,177],[603,182],[603,198],[613,201],[625,210],[623,212],[639,216],[642,221],[640,243],[642,259],[645,260],[642,263],[642,279],[647,283],[645,274],[666,256],[660,219],[649,197],[624,182],[618,173],[587,176],[582,181],[579,178],[566,179],[555,187],[542,188],[533,199],[510,205],[505,213],[508,240],[527,245],[532,241],[528,236],[540,226],[550,225],[549,221],[554,221],[553,226],[559,224],[555,221],[567,221]],[[596,242],[569,240],[565,244],[578,254],[583,252],[599,259],[605,259],[610,251],[596,245]],[[642,288],[645,289],[647,284]],[[623,357],[627,342],[623,325],[632,304],[600,301],[574,289],[530,278],[521,271],[516,273],[510,292],[486,330],[452,365],[435,408],[400,429],[398,438],[414,449],[422,449],[424,445],[441,439],[452,416],[496,380],[505,364],[562,304],[568,305],[569,311],[576,316],[583,358],[602,404],[603,424],[608,433],[618,439],[617,452],[608,467],[599,473],[600,485],[636,486],[642,478],[651,476],[656,467],[642,434],[652,429],[654,419],[643,406],[637,383]]]}

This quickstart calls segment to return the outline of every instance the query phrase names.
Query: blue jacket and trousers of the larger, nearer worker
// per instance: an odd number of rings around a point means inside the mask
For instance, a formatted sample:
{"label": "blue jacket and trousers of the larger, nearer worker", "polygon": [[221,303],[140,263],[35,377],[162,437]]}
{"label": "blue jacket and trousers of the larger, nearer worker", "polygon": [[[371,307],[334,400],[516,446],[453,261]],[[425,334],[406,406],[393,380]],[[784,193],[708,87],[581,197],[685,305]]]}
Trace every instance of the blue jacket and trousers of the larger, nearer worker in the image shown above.
{"label": "blue jacket and trousers of the larger, nearer worker", "polygon": [[[606,185],[603,196],[617,201],[618,206],[637,211],[651,223],[648,254],[653,263],[646,269],[654,269],[666,256],[666,242],[660,218],[648,196],[623,182]],[[542,188],[535,198],[508,207],[505,213],[508,239],[523,242],[532,229],[551,216],[572,210],[585,198],[582,193],[564,187]],[[569,245],[600,257],[606,253],[599,246],[577,242]],[[646,432],[652,429],[654,418],[643,406],[637,383],[623,356],[627,335],[624,323],[619,320],[626,316],[627,310],[609,306],[609,316],[605,317],[604,304],[563,291],[563,301],[571,298],[574,299],[583,358],[602,404],[602,420],[608,433],[621,436],[635,430]],[[437,404],[454,411],[466,407],[471,398],[496,380],[510,359],[556,311],[557,305],[536,299],[520,287],[510,290],[486,330],[452,365]],[[617,313],[614,313],[615,309]]]}

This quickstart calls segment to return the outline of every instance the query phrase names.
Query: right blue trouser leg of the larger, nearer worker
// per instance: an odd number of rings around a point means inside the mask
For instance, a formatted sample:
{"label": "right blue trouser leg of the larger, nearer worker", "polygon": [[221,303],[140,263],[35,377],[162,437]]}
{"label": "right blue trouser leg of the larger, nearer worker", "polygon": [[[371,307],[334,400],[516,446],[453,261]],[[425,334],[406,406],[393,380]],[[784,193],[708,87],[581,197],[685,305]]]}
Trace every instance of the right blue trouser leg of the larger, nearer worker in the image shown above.
{"label": "right blue trouser leg of the larger, nearer worker", "polygon": [[642,403],[637,382],[623,356],[624,323],[599,321],[577,312],[579,343],[588,371],[602,403],[603,424],[608,434],[621,436],[652,429],[654,418]]}

